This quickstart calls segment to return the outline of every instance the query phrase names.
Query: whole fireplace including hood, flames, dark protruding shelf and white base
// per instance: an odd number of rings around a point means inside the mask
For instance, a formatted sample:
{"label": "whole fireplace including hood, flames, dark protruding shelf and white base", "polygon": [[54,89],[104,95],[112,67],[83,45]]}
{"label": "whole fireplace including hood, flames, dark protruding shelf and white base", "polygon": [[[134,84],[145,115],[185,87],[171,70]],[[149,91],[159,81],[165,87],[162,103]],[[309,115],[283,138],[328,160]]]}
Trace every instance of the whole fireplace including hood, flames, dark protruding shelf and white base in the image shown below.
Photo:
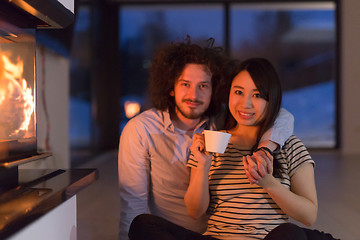
{"label": "whole fireplace including hood, flames, dark protruding shelf and white base", "polygon": [[96,169],[19,167],[51,155],[37,151],[36,34],[67,16],[57,0],[0,0],[0,239],[76,238],[76,194],[98,178]]}

